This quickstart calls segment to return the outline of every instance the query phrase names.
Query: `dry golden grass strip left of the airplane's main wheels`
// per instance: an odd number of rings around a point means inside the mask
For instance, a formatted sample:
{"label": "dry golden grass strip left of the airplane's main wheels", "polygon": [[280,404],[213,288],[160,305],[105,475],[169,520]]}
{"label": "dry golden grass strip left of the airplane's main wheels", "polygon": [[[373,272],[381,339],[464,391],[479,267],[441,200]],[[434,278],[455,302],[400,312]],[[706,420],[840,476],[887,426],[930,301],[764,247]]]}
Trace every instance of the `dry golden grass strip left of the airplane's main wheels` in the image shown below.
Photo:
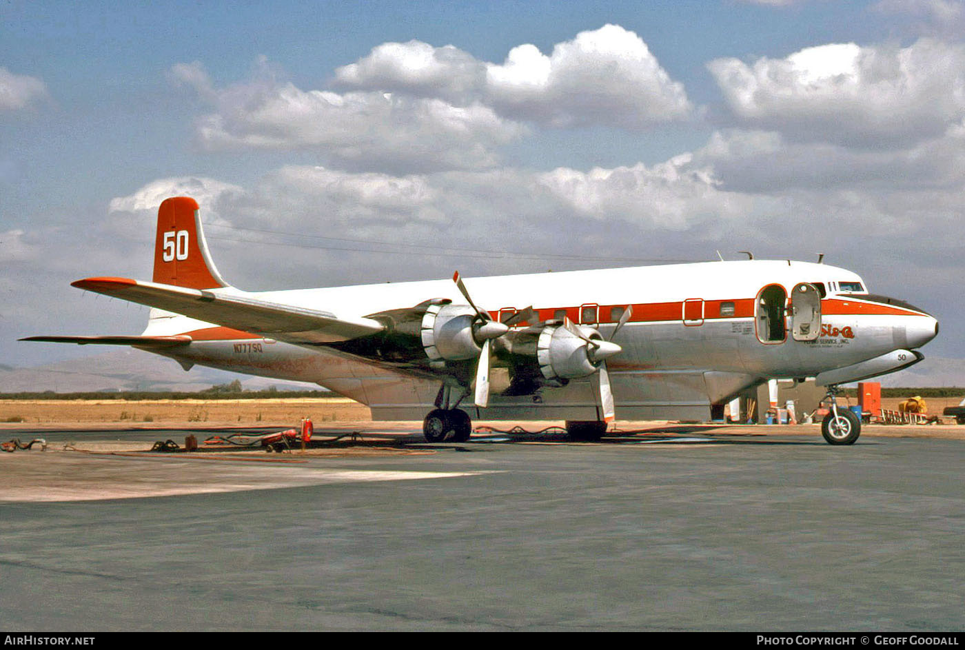
{"label": "dry golden grass strip left of the airplane's main wheels", "polygon": [[129,426],[294,426],[305,417],[321,422],[371,420],[369,407],[345,398],[0,400],[0,422],[19,424],[122,423]]}

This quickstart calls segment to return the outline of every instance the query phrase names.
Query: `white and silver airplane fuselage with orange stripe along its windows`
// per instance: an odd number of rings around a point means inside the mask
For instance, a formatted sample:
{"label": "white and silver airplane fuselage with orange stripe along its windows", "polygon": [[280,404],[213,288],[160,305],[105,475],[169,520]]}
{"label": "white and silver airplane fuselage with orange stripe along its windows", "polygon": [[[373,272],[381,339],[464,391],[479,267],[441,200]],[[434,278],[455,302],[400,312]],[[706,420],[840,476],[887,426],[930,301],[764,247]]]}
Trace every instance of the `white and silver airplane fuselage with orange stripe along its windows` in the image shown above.
{"label": "white and silver airplane fuselage with orange stripe along its windows", "polygon": [[[782,290],[789,296],[801,283],[820,285],[825,294],[820,300],[820,336],[812,340],[791,335],[793,296],[781,302]],[[632,305],[633,316],[615,339],[622,351],[608,362],[620,419],[705,419],[709,404],[722,403],[768,378],[819,376],[914,350],[937,333],[937,321],[924,311],[869,298],[858,275],[808,262],[702,262],[471,278],[465,284],[473,300],[495,318],[501,311],[533,306],[541,320],[565,314],[593,326],[604,338],[619,318],[619,311],[611,310]],[[768,286],[775,288],[765,293]],[[244,293],[231,287],[213,292]],[[345,318],[409,308],[433,298],[465,302],[448,280],[245,295]],[[769,312],[763,306],[768,300],[776,306]],[[316,383],[369,404],[376,419],[421,420],[441,383],[335,348],[292,345],[152,311],[145,335],[176,334],[193,340],[162,354],[182,364]],[[494,391],[485,409],[462,406],[483,420],[595,420],[595,381],[591,376],[562,388],[513,396]],[[499,385],[499,377],[493,385]]]}

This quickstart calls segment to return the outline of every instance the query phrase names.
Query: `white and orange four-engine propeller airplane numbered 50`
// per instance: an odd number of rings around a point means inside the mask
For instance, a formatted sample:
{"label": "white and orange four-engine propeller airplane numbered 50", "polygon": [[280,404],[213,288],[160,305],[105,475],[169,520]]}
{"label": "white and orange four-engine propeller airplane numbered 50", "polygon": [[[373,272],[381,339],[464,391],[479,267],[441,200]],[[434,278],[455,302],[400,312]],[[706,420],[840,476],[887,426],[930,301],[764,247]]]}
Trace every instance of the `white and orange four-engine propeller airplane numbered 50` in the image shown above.
{"label": "white and orange four-engine propeller airplane numbered 50", "polygon": [[468,440],[473,419],[565,420],[599,440],[617,405],[622,420],[707,420],[771,378],[813,377],[828,387],[824,439],[853,444],[861,421],[838,387],[920,362],[938,321],[821,258],[748,257],[244,291],[218,273],[198,203],[174,197],[158,208],[151,282],[72,283],[151,307],[141,335],[21,340],[312,382],[373,420],[423,420],[429,442]]}

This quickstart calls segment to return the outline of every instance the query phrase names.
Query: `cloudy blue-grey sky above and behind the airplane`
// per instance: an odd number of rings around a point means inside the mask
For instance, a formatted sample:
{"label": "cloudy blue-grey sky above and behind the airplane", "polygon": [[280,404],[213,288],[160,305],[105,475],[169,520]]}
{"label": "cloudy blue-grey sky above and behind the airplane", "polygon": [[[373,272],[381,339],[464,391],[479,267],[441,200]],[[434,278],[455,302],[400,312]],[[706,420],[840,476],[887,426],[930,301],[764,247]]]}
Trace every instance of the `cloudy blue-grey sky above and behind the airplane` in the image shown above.
{"label": "cloudy blue-grey sky above and behind the airplane", "polygon": [[963,190],[959,0],[0,5],[5,366],[176,195],[244,289],[823,253],[960,359]]}

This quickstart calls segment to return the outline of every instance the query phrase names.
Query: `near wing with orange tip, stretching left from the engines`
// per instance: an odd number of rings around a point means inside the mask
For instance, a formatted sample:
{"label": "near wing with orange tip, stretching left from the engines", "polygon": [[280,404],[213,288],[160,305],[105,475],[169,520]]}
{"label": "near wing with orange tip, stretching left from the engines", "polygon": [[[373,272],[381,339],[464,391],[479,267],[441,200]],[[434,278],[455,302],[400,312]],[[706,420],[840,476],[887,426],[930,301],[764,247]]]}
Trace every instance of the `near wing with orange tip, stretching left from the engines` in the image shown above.
{"label": "near wing with orange tip, stretching left from the engines", "polygon": [[87,278],[71,283],[88,291],[297,344],[332,343],[381,332],[371,318],[340,318],[328,311],[279,305],[208,289],[127,278]]}

